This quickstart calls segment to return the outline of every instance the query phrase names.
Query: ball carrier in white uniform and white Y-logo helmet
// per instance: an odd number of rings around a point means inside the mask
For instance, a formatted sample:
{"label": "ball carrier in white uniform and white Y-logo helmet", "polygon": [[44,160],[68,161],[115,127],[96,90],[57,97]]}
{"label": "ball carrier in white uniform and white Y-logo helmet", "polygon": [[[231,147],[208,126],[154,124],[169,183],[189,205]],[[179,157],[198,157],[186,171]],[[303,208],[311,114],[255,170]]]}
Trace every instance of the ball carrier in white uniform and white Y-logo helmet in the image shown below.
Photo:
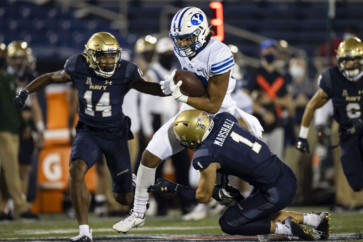
{"label": "ball carrier in white uniform and white Y-logo helmet", "polygon": [[[234,60],[227,45],[212,37],[208,20],[199,8],[187,7],[180,9],[171,22],[169,36],[174,41],[174,53],[184,70],[194,72],[202,80],[207,97],[188,97],[180,92],[179,81],[174,84],[175,71],[160,82],[165,94],[172,94],[175,100],[183,102],[180,111],[200,109],[213,117],[216,113],[229,112],[234,114],[236,102],[231,98],[231,92],[236,85],[232,76]],[[262,134],[262,127],[257,118],[237,109],[244,118],[249,130],[257,137]],[[178,114],[177,114],[178,115]],[[152,137],[143,152],[139,166],[134,209],[130,216],[116,223],[113,229],[126,234],[133,227],[142,227],[145,222],[144,213],[149,194],[147,187],[155,181],[156,167],[184,149],[175,137],[173,124],[175,117],[164,124]]]}

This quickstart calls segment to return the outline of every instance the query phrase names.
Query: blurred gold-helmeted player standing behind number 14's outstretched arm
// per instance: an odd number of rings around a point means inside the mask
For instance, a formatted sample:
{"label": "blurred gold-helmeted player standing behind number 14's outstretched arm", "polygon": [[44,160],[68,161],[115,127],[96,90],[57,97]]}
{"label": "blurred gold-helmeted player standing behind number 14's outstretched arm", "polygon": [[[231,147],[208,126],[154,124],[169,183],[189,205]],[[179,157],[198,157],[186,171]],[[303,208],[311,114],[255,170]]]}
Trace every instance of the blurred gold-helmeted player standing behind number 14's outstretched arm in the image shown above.
{"label": "blurred gold-helmeted player standing behind number 14's outstretched arm", "polygon": [[[12,41],[7,48],[7,58],[7,71],[16,78],[17,92],[24,89],[26,85],[38,77],[38,74],[33,70],[35,63],[32,50],[26,42]],[[21,109],[21,114],[25,122],[25,128],[20,133],[19,171],[21,190],[27,195],[29,175],[33,166],[35,166],[35,169],[37,168],[39,150],[44,144],[45,126],[36,93],[29,95],[28,102]],[[32,184],[36,185],[35,182]],[[30,189],[36,190],[36,187]]]}

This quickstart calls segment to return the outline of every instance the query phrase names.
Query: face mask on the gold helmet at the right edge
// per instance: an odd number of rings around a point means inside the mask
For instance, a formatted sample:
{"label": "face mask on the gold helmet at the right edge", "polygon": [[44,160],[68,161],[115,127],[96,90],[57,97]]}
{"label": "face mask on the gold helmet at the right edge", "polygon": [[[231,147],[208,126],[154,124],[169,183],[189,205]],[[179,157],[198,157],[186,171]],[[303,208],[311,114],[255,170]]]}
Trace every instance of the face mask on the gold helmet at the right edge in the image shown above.
{"label": "face mask on the gold helmet at the right edge", "polygon": [[363,58],[338,58],[340,72],[349,81],[356,81],[363,76]]}

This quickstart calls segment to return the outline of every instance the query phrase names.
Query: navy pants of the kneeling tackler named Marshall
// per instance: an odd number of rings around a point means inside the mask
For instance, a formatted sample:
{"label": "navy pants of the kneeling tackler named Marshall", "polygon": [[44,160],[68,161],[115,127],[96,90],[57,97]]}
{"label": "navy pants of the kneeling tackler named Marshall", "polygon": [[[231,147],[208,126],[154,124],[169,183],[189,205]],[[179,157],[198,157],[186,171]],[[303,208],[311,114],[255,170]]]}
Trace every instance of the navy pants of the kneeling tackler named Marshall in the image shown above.
{"label": "navy pants of the kneeling tackler named Marshall", "polygon": [[229,235],[269,234],[269,215],[281,211],[293,201],[296,186],[295,174],[285,164],[284,174],[276,186],[266,191],[253,189],[248,197],[224,211],[219,219],[222,231]]}

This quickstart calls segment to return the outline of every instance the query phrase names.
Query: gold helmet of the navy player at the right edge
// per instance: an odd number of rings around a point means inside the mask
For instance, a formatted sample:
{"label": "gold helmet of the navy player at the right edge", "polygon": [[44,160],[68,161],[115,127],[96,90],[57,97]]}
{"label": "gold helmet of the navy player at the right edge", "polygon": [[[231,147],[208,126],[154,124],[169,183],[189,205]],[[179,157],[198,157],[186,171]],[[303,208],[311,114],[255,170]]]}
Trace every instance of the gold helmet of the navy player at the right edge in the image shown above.
{"label": "gold helmet of the navy player at the right edge", "polygon": [[349,81],[363,76],[363,43],[360,39],[349,38],[339,44],[337,60],[340,72]]}

